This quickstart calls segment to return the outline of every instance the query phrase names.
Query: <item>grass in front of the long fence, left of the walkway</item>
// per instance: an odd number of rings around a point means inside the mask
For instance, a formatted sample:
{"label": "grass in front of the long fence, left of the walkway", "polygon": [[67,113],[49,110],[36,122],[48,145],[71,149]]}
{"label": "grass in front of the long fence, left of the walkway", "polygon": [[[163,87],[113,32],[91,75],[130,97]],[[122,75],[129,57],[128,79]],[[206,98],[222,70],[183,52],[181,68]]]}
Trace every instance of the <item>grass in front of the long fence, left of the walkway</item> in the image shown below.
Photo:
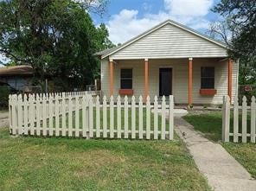
{"label": "grass in front of the long fence, left of the walkway", "polygon": [[180,139],[10,137],[0,130],[0,190],[209,190]]}

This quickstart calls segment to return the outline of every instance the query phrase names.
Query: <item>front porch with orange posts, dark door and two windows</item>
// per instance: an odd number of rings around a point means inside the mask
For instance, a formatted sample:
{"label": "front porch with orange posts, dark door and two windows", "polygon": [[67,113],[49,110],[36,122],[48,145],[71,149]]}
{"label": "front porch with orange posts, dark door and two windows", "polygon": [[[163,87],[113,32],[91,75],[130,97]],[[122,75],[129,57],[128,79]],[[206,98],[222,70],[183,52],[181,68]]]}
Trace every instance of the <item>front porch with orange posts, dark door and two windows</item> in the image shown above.
{"label": "front porch with orange posts, dark door and two windows", "polygon": [[[202,77],[207,68],[214,80]],[[233,68],[227,58],[109,59],[107,69],[109,96],[113,97],[144,95],[144,100],[147,96],[153,100],[156,95],[172,94],[176,104],[185,105],[217,105],[224,95],[232,97]]]}

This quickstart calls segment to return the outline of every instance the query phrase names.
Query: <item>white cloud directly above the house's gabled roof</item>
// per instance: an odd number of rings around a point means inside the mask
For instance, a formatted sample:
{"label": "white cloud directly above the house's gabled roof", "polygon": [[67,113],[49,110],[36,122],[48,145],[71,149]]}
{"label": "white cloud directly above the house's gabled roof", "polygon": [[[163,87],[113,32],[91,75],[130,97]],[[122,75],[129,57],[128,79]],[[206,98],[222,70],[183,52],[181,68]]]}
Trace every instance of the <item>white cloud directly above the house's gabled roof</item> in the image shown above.
{"label": "white cloud directly above the house's gabled roof", "polygon": [[205,16],[214,0],[163,0],[164,10],[157,14],[145,14],[138,18],[138,10],[121,10],[106,23],[110,40],[118,44],[143,33],[146,29],[167,19],[188,25],[193,29],[207,29],[208,20]]}

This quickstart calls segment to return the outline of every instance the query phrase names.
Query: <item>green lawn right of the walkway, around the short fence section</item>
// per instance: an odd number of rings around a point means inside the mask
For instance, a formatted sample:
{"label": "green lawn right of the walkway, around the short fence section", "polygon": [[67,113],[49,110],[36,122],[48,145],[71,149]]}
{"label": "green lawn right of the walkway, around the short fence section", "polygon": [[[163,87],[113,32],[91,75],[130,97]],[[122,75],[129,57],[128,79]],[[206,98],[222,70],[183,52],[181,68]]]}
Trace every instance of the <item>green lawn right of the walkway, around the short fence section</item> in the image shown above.
{"label": "green lawn right of the walkway, around the short fence section", "polygon": [[[205,114],[193,114],[183,117],[201,131],[205,137],[213,141],[221,141],[221,111],[208,111]],[[233,129],[233,118],[230,119],[231,131]],[[241,127],[241,117],[239,120]],[[250,114],[247,117],[247,129],[250,129]],[[233,137],[231,137],[232,140]],[[222,146],[240,162],[254,178],[256,178],[256,145],[255,143],[221,143]]]}

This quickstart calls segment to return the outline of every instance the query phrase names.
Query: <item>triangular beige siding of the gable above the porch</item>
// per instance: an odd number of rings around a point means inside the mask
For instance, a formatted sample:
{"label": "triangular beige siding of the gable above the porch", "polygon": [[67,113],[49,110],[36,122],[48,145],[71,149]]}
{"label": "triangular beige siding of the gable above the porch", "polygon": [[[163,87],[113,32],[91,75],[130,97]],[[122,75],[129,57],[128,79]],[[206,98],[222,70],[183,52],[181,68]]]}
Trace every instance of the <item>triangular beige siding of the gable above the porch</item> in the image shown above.
{"label": "triangular beige siding of the gable above the porch", "polygon": [[110,56],[111,59],[227,57],[225,48],[169,24]]}

